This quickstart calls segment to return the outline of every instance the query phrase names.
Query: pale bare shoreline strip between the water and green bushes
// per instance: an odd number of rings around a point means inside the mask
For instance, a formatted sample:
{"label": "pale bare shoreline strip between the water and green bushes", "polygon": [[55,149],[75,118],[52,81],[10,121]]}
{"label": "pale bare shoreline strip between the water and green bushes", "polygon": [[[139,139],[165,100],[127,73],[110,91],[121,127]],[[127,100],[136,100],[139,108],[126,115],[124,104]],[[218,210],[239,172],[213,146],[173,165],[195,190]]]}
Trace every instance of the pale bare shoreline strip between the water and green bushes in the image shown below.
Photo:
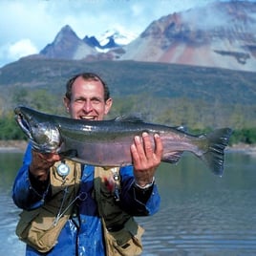
{"label": "pale bare shoreline strip between the water and green bushes", "polygon": [[[28,140],[0,140],[0,153],[22,153],[25,152],[27,145]],[[256,144],[249,145],[238,143],[232,146],[227,146],[225,151],[256,155]]]}

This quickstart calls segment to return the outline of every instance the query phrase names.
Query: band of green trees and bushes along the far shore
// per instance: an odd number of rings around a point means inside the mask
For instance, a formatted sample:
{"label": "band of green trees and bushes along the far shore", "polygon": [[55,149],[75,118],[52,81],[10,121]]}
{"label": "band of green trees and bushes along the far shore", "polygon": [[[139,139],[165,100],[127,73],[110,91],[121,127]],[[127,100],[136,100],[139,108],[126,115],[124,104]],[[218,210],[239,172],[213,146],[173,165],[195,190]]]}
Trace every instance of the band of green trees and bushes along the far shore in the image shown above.
{"label": "band of green trees and bushes along the far shore", "polygon": [[[53,98],[47,92],[35,91],[32,96],[30,93],[24,94],[23,92],[23,96],[25,97],[22,101],[30,100],[29,105],[36,110],[54,115],[65,115],[60,100]],[[248,119],[250,115],[243,115],[251,111],[255,113],[256,105],[254,108],[238,105],[235,107],[218,105],[212,108],[211,104],[201,100],[191,101],[187,98],[170,100],[143,95],[117,97],[114,102],[113,110],[108,118],[118,115],[136,115],[149,122],[170,126],[183,125],[189,133],[195,135],[228,126],[234,130],[230,144],[256,143],[256,120],[255,118]],[[14,120],[12,111],[1,115],[0,131],[0,139],[25,139],[25,135]]]}

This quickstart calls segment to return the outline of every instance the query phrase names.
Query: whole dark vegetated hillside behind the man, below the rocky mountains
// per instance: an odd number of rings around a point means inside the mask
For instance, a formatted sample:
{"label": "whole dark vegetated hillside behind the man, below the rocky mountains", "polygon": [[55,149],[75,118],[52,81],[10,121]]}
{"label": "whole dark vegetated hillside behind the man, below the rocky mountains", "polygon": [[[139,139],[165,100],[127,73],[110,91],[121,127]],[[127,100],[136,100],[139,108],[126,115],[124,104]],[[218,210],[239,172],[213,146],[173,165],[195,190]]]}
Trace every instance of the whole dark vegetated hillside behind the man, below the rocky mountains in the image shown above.
{"label": "whole dark vegetated hillside behind the man, below the rocky mountains", "polygon": [[255,73],[53,59],[22,59],[0,69],[0,139],[24,139],[13,117],[17,105],[64,116],[65,83],[85,71],[101,75],[110,86],[114,106],[108,118],[141,115],[149,122],[183,125],[192,134],[230,127],[234,130],[231,144],[256,143]]}

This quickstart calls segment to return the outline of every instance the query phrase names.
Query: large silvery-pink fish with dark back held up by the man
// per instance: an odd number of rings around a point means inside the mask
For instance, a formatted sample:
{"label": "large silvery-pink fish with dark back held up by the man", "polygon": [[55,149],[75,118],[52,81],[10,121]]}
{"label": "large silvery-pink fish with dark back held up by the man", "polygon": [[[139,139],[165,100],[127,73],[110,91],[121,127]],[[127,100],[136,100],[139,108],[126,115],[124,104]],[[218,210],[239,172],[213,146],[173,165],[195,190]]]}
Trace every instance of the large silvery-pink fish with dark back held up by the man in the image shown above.
{"label": "large silvery-pink fish with dark back held up by the man", "polygon": [[[163,143],[162,161],[177,162],[183,151],[194,153],[217,175],[224,171],[224,148],[231,129],[217,129],[194,136],[177,127],[145,123],[136,118],[91,121],[58,117],[27,107],[14,110],[17,123],[40,152],[56,152],[65,158],[98,166],[132,164],[130,147],[143,132],[159,134]],[[177,152],[174,154],[174,152]]]}

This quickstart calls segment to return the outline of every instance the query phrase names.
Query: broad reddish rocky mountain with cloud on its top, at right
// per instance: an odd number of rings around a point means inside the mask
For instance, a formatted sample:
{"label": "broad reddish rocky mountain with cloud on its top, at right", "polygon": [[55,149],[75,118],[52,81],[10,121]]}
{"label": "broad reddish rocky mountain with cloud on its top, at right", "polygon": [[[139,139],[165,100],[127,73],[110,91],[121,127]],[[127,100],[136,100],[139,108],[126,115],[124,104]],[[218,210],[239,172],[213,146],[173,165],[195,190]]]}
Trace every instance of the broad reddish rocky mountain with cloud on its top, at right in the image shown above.
{"label": "broad reddish rocky mountain with cloud on its top, at right", "polygon": [[120,59],[256,71],[255,34],[256,3],[211,4],[154,21]]}

